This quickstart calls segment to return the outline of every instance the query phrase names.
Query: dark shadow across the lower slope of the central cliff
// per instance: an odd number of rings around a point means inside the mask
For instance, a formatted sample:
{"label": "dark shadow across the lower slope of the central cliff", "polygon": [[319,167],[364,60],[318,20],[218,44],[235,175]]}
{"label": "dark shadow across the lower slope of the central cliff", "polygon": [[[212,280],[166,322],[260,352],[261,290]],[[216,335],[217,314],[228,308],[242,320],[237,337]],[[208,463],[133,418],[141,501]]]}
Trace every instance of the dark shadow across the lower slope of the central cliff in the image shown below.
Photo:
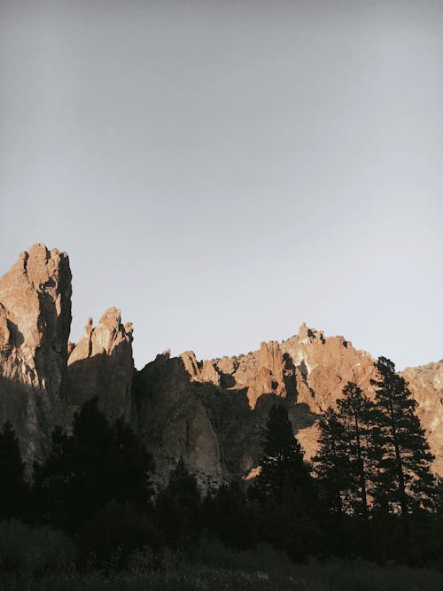
{"label": "dark shadow across the lower slope of the central cliff", "polygon": [[[220,450],[223,478],[241,478],[256,465],[270,408],[284,404],[290,411],[294,432],[312,426],[318,416],[306,404],[297,404],[295,367],[285,355],[286,398],[264,393],[250,408],[246,387],[235,387],[234,375],[218,373],[221,385],[191,380],[183,361],[160,354],[134,377],[133,424],[159,464],[169,470],[183,455],[194,465],[207,446],[207,464],[215,463],[214,436]],[[198,367],[202,367],[202,364]],[[307,374],[307,368],[305,366]],[[230,387],[227,387],[229,384]],[[200,450],[201,451],[201,450]],[[201,462],[200,462],[201,464]],[[204,462],[203,462],[204,464]],[[161,467],[159,465],[161,470]]]}

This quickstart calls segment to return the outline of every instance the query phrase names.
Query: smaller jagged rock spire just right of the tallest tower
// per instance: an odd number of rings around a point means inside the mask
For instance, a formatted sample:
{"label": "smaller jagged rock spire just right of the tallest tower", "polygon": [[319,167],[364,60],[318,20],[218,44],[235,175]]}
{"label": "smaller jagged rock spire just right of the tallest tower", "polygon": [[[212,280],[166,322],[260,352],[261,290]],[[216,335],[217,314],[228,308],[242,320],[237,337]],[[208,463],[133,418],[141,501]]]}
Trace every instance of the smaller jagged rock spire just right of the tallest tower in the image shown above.
{"label": "smaller jagged rock spire just right of the tallest tower", "polygon": [[120,310],[110,307],[93,327],[92,318],[81,340],[68,345],[66,391],[71,412],[98,396],[99,407],[111,420],[131,420],[134,374],[132,323],[121,323]]}

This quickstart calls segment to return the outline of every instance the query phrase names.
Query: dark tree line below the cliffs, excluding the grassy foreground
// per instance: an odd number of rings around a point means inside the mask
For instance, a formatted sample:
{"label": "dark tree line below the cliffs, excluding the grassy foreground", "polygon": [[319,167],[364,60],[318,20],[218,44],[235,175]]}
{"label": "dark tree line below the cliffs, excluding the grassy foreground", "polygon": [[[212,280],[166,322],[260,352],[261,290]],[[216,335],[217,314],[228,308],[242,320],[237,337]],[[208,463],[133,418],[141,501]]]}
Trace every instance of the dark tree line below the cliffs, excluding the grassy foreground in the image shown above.
{"label": "dark tree line below the cliffs, excluding the grassy foreground", "polygon": [[443,485],[431,474],[416,401],[392,362],[381,357],[376,367],[374,398],[348,383],[324,413],[312,464],[282,401],[268,416],[258,476],[206,494],[183,460],[155,492],[152,456],[127,424],[106,419],[97,399],[74,416],[71,432],[54,430],[30,484],[6,423],[0,519],[63,531],[82,568],[117,551],[123,568],[146,547],[185,555],[208,537],[237,550],[266,542],[297,561],[361,556],[443,567]]}

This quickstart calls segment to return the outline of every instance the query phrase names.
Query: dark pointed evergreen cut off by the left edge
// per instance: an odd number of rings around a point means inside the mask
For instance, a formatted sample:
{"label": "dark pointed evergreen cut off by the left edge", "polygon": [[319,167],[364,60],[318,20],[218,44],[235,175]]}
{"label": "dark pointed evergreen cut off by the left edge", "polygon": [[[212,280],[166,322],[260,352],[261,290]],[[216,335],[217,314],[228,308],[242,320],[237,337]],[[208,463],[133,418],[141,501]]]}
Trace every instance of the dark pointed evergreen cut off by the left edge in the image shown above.
{"label": "dark pointed evergreen cut off by the left edge", "polygon": [[0,518],[23,516],[27,497],[25,464],[11,421],[6,421],[0,432],[0,483]]}

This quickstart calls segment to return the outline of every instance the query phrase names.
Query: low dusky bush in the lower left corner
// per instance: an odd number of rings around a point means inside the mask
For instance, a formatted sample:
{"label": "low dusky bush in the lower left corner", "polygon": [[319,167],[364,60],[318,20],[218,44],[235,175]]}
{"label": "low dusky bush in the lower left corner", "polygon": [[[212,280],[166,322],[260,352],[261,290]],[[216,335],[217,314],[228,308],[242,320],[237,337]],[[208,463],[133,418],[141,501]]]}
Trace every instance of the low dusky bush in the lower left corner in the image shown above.
{"label": "low dusky bush in the lower left corner", "polygon": [[74,564],[74,542],[50,527],[0,522],[0,572],[42,576]]}

